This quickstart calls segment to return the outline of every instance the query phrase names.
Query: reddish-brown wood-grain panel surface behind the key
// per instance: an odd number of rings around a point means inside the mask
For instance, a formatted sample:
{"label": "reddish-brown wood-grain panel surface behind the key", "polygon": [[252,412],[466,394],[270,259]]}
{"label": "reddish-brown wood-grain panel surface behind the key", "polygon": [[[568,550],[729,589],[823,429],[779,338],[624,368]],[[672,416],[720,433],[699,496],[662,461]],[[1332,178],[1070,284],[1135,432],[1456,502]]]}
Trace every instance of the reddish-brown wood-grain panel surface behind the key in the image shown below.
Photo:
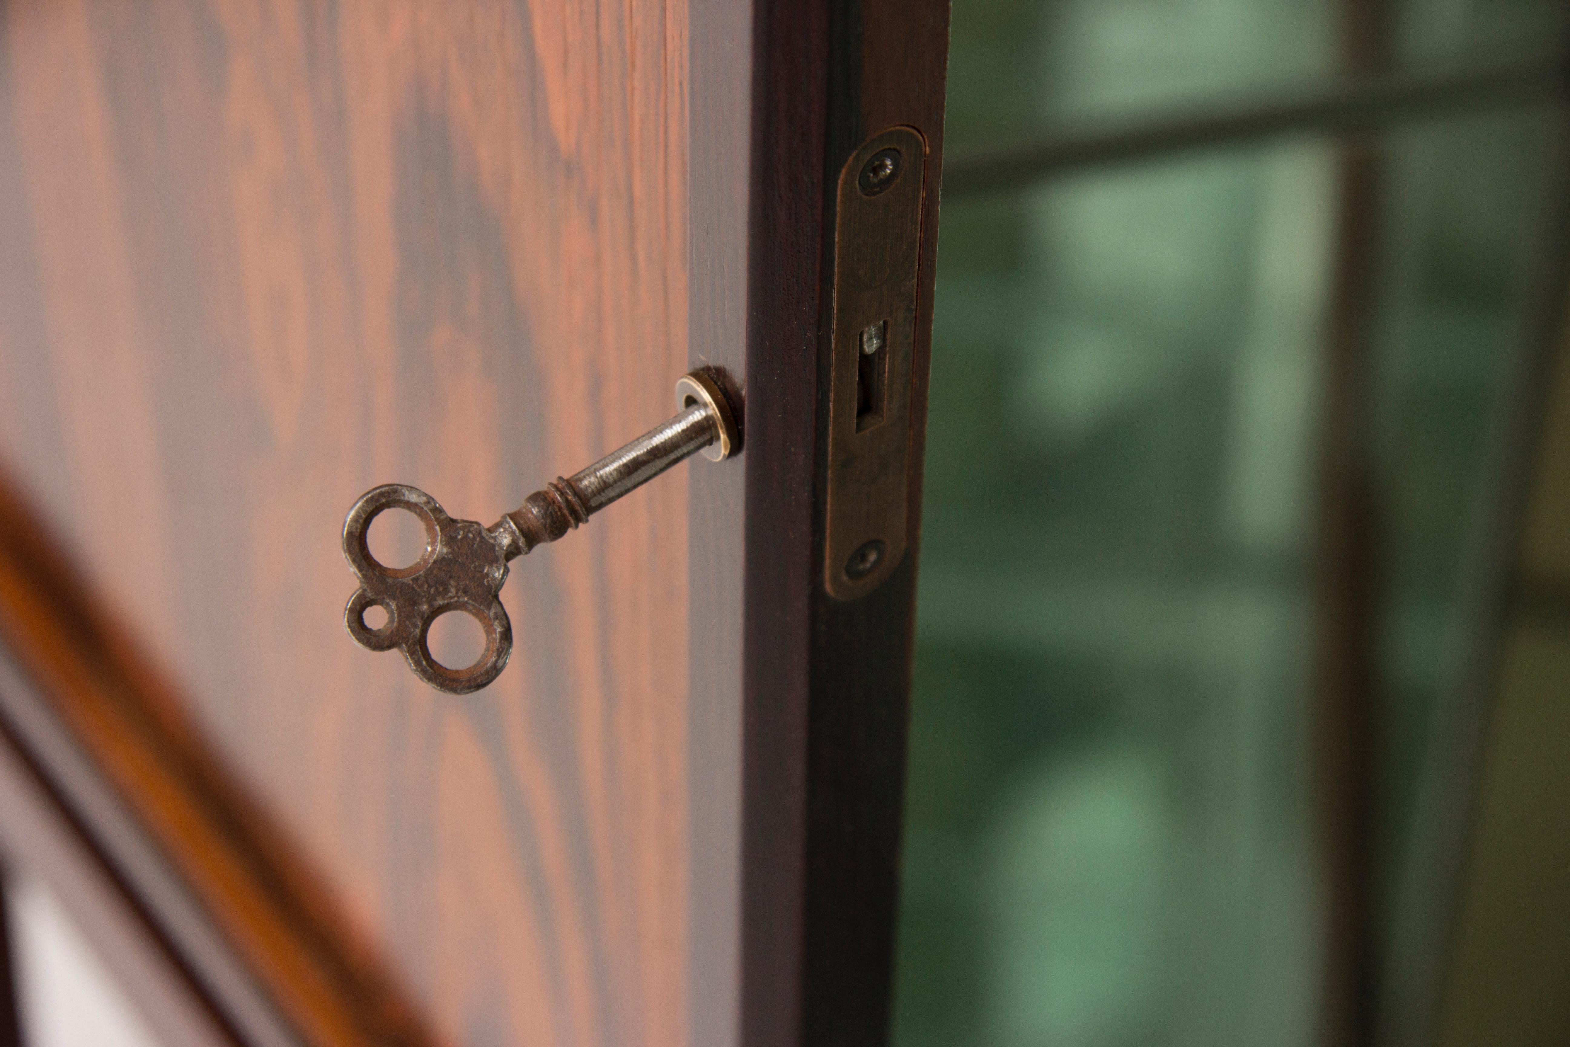
{"label": "reddish-brown wood-grain panel surface behind the key", "polygon": [[347,639],[338,540],[670,411],[688,55],[678,0],[0,3],[0,463],[451,1042],[688,1039],[686,469],[513,564],[466,699]]}

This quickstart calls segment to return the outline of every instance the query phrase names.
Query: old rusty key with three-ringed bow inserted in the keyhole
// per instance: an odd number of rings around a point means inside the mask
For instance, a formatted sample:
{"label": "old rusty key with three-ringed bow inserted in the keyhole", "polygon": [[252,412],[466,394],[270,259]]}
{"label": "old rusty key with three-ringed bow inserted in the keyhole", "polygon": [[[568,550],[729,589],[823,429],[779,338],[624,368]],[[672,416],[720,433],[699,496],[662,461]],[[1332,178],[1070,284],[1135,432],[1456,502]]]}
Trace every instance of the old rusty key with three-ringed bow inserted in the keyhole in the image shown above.
{"label": "old rusty key with three-ringed bow inserted in the keyhole", "polygon": [[[680,414],[595,461],[582,472],[545,485],[490,527],[454,520],[425,491],[383,483],[360,496],[344,520],[344,557],[360,589],[344,607],[344,625],[361,647],[403,651],[421,680],[447,694],[479,691],[507,667],[512,623],[501,606],[507,562],[542,542],[556,542],[589,516],[670,466],[703,452],[722,461],[739,449],[741,430],[725,392],[708,374],[677,381]],[[391,568],[371,556],[371,521],[388,509],[411,512],[425,526],[425,551],[414,564]],[[382,607],[386,622],[366,625]],[[485,651],[466,669],[449,669],[430,655],[430,625],[449,611],[473,615],[485,631]]]}

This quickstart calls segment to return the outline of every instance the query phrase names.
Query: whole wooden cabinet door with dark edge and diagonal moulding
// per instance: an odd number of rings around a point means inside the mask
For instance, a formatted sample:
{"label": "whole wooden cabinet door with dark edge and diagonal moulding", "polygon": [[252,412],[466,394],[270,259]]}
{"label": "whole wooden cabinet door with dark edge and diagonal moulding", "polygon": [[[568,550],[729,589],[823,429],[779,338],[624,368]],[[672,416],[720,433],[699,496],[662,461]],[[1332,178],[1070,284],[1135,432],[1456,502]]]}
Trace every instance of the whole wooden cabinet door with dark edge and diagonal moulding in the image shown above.
{"label": "whole wooden cabinet door with dark edge and diagonal moulding", "polygon": [[[939,0],[0,5],[0,845],[166,1042],[887,1039],[945,49]],[[837,193],[898,127],[906,553],[845,601]],[[696,366],[743,454],[515,560],[496,683],[349,640],[360,493],[490,523]]]}

